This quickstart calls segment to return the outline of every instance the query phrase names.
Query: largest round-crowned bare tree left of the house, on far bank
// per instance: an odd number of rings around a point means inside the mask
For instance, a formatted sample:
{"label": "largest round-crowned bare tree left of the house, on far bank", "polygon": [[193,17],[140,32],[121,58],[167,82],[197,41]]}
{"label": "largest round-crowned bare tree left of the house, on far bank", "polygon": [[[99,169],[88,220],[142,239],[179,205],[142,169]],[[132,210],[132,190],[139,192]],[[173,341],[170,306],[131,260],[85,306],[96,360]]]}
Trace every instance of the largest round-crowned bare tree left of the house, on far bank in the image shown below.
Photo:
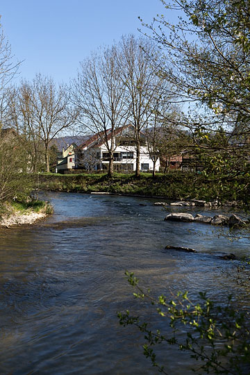
{"label": "largest round-crowned bare tree left of the house, on far bank", "polygon": [[49,172],[49,144],[58,133],[76,122],[77,111],[69,106],[67,87],[63,84],[57,87],[52,78],[41,74],[31,83],[23,81],[20,95],[22,115],[34,149],[36,140],[41,140]]}

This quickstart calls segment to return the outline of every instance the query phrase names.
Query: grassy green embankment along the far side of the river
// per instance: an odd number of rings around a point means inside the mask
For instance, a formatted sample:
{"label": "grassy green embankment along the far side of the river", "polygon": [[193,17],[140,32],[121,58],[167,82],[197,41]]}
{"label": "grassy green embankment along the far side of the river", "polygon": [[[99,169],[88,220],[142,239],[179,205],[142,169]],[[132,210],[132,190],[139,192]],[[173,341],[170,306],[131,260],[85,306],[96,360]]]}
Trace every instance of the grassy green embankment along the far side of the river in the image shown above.
{"label": "grassy green embankment along the far side of the river", "polygon": [[60,192],[110,192],[116,194],[146,195],[167,199],[219,199],[244,201],[247,198],[247,177],[208,178],[203,174],[174,171],[169,174],[41,174],[42,190]]}

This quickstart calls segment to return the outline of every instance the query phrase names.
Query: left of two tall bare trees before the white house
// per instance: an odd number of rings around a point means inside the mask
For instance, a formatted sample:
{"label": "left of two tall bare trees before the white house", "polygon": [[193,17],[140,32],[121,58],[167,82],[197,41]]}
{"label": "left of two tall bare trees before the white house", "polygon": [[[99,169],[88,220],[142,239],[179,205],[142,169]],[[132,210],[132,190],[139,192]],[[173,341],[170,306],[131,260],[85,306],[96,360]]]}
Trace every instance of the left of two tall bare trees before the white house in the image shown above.
{"label": "left of two tall bare trees before the white house", "polygon": [[72,101],[81,114],[81,126],[98,133],[109,155],[108,175],[113,174],[116,138],[128,119],[126,86],[120,79],[117,46],[93,53],[81,63],[72,83]]}

